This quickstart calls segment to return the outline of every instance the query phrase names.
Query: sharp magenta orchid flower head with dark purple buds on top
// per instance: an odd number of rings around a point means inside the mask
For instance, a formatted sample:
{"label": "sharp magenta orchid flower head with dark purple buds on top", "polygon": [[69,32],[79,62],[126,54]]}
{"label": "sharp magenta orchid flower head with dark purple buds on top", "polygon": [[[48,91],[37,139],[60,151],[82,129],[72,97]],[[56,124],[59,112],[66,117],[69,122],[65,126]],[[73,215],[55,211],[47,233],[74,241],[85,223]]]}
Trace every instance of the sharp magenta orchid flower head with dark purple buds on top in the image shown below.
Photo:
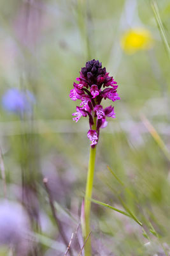
{"label": "sharp magenta orchid flower head with dark purple buds on top", "polygon": [[[75,116],[73,120],[78,122],[81,116],[89,116],[90,130],[87,132],[87,137],[92,141],[91,146],[94,147],[99,140],[99,129],[108,124],[106,116],[115,118],[114,107],[109,106],[103,109],[101,101],[103,99],[110,99],[113,102],[120,100],[117,93],[118,85],[106,72],[106,68],[102,68],[99,60],[88,61],[85,67],[81,68],[80,77],[76,80],[79,83],[73,83],[74,89],[70,91],[69,97],[72,100],[81,100],[81,103],[73,113]],[[102,86],[106,88],[102,90]],[[97,119],[96,130],[92,129],[94,117]]]}

